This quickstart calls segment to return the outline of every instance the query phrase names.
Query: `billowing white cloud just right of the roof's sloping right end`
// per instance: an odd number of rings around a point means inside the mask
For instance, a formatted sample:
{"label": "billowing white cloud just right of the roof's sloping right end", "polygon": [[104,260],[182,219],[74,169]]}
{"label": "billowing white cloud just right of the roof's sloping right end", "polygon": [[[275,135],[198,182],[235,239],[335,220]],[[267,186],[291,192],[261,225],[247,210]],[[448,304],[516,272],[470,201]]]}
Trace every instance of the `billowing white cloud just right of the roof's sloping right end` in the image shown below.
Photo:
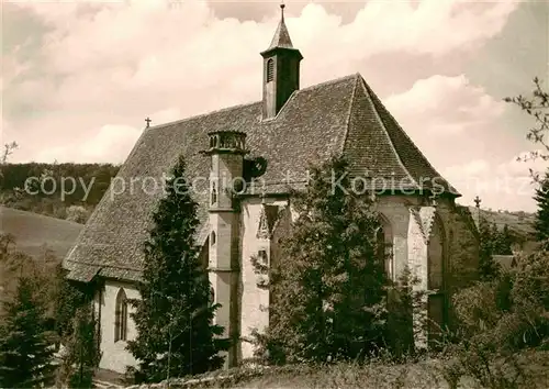
{"label": "billowing white cloud just right of the roof's sloping right end", "polygon": [[[473,185],[471,177],[488,171],[501,153],[515,153],[514,144],[501,136],[505,103],[464,75],[418,79],[408,90],[384,99],[384,104],[433,166],[447,171],[442,176],[458,190],[462,181]],[[501,140],[497,147],[495,138]]]}

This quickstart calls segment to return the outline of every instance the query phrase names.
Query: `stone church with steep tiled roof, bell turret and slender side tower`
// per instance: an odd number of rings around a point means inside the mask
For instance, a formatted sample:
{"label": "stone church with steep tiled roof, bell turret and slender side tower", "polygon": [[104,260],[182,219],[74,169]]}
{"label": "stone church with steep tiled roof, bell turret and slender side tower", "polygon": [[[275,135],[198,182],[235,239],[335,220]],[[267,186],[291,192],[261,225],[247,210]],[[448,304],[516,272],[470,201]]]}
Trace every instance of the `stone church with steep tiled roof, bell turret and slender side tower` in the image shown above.
{"label": "stone church with steep tiled roof, bell turret and slender side tower", "polygon": [[[124,373],[136,364],[125,349],[136,336],[127,299],[138,298],[150,215],[181,154],[199,203],[195,241],[222,307],[215,322],[235,341],[227,367],[253,356],[250,334],[269,321],[269,291],[258,287],[250,258],[277,260],[280,237],[295,218],[290,189],[303,189],[310,164],[330,156],[345,156],[352,174],[378,193],[388,276],[396,280],[412,268],[428,290],[435,323],[451,320],[449,296],[474,277],[478,233],[467,208],[455,202],[460,194],[360,74],[300,88],[303,56],[281,8],[274,36],[258,58],[261,99],[145,129],[67,254],[68,279],[96,290],[100,368]],[[234,182],[236,193],[227,190]]]}

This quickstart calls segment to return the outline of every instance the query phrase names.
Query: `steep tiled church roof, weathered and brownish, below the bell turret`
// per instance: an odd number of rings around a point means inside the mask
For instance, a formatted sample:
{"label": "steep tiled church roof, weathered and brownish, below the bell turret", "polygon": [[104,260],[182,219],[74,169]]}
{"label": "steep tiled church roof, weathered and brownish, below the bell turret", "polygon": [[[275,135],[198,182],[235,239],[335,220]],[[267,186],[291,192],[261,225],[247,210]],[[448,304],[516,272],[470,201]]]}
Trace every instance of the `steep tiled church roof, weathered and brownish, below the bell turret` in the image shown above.
{"label": "steep tiled church roof, weathered and brownish, below the bell turret", "polygon": [[[163,175],[182,154],[191,182],[208,178],[210,164],[200,152],[209,145],[208,133],[222,130],[245,132],[249,157],[267,159],[261,178],[268,193],[302,187],[310,164],[341,153],[355,173],[368,169],[373,178],[392,178],[385,189],[430,189],[429,181],[422,181],[428,178],[453,191],[356,74],[294,92],[271,120],[261,121],[261,102],[255,102],[146,129],[67,255],[69,277],[88,280],[99,271],[102,277],[138,279],[150,214],[163,196]],[[405,186],[395,188],[401,179]],[[382,188],[383,182],[373,182]],[[201,243],[208,236],[204,180],[195,181],[194,196]]]}

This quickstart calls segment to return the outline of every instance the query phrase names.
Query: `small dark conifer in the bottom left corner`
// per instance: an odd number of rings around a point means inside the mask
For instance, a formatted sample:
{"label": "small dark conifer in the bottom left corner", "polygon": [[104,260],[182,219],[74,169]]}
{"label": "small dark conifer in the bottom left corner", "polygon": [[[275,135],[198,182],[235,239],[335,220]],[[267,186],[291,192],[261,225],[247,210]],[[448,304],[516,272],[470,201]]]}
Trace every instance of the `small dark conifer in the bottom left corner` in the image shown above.
{"label": "small dark conifer in the bottom left corner", "polygon": [[46,301],[40,280],[21,277],[15,296],[5,303],[0,324],[0,387],[33,388],[51,384],[53,342],[46,331]]}

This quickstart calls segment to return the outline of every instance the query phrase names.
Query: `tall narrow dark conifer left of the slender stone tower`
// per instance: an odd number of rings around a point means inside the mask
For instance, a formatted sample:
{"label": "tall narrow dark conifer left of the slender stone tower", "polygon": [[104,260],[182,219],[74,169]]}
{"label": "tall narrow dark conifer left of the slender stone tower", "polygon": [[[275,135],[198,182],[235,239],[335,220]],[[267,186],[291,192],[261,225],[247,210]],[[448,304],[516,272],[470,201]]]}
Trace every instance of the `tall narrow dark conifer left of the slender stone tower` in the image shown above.
{"label": "tall narrow dark conifer left of the slender stone tower", "polygon": [[220,368],[220,351],[228,348],[228,341],[220,338],[223,327],[212,324],[217,305],[211,304],[208,273],[199,258],[198,204],[184,166],[180,157],[153,214],[141,299],[131,301],[137,336],[128,349],[138,362],[137,382]]}

